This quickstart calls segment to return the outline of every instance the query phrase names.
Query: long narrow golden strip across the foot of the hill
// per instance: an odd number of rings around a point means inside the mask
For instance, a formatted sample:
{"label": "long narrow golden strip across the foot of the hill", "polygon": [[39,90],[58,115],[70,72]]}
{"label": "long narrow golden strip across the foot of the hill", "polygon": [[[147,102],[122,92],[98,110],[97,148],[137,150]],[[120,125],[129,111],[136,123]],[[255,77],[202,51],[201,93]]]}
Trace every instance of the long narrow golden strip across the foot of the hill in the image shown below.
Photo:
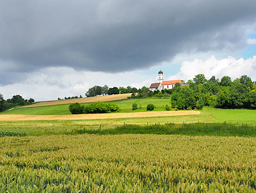
{"label": "long narrow golden strip across the foot of the hill", "polygon": [[27,120],[93,120],[93,119],[120,119],[169,117],[200,114],[200,111],[151,111],[110,114],[65,114],[65,115],[28,115],[28,114],[0,114],[0,121],[27,121]]}

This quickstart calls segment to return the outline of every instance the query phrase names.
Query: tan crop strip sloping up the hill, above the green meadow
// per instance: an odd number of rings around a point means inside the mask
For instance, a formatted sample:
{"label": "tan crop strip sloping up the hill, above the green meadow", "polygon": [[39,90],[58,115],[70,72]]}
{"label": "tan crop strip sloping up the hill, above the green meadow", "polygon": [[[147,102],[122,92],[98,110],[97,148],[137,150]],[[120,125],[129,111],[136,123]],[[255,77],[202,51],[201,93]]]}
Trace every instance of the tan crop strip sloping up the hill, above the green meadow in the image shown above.
{"label": "tan crop strip sloping up the hill, above the green meadow", "polygon": [[45,101],[39,102],[33,105],[22,106],[18,108],[26,108],[26,107],[43,107],[43,106],[51,106],[51,105],[63,105],[63,104],[72,104],[75,102],[86,103],[86,102],[97,102],[97,101],[112,101],[112,100],[122,100],[130,97],[132,93],[128,94],[119,94],[119,95],[107,95],[107,96],[97,96],[97,97],[86,97],[86,98],[75,98],[75,99],[67,99],[67,100],[54,100],[54,101]]}

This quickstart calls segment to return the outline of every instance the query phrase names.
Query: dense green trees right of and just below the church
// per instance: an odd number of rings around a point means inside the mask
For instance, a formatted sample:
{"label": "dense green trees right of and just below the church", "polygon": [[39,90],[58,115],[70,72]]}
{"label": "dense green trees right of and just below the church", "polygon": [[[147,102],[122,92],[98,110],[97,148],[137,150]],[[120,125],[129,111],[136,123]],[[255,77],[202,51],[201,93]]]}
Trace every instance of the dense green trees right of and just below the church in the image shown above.
{"label": "dense green trees right of and just below the church", "polygon": [[229,76],[223,76],[221,80],[212,76],[207,80],[203,74],[198,74],[187,83],[189,87],[176,83],[173,89],[161,92],[151,92],[143,87],[132,98],[170,96],[172,107],[177,109],[201,109],[203,106],[256,109],[256,85],[247,75],[232,81]]}

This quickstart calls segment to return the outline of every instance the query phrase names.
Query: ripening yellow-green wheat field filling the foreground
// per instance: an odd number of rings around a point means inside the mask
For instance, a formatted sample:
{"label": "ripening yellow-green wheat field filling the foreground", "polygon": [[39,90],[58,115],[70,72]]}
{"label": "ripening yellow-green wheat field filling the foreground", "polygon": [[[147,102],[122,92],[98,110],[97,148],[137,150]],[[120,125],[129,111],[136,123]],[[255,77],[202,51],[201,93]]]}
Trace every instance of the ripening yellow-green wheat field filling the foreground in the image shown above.
{"label": "ripening yellow-green wheat field filling the foreground", "polygon": [[256,138],[2,137],[0,192],[256,192]]}

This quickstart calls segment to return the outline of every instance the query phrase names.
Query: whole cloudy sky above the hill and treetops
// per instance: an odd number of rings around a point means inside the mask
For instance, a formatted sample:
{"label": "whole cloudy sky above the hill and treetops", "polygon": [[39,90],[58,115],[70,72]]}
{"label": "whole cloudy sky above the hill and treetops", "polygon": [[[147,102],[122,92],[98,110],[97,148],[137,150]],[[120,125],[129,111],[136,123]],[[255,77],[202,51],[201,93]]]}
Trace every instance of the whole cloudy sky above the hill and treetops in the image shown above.
{"label": "whole cloudy sky above the hill and treetops", "polygon": [[197,74],[256,81],[255,0],[0,0],[0,93],[36,101]]}

